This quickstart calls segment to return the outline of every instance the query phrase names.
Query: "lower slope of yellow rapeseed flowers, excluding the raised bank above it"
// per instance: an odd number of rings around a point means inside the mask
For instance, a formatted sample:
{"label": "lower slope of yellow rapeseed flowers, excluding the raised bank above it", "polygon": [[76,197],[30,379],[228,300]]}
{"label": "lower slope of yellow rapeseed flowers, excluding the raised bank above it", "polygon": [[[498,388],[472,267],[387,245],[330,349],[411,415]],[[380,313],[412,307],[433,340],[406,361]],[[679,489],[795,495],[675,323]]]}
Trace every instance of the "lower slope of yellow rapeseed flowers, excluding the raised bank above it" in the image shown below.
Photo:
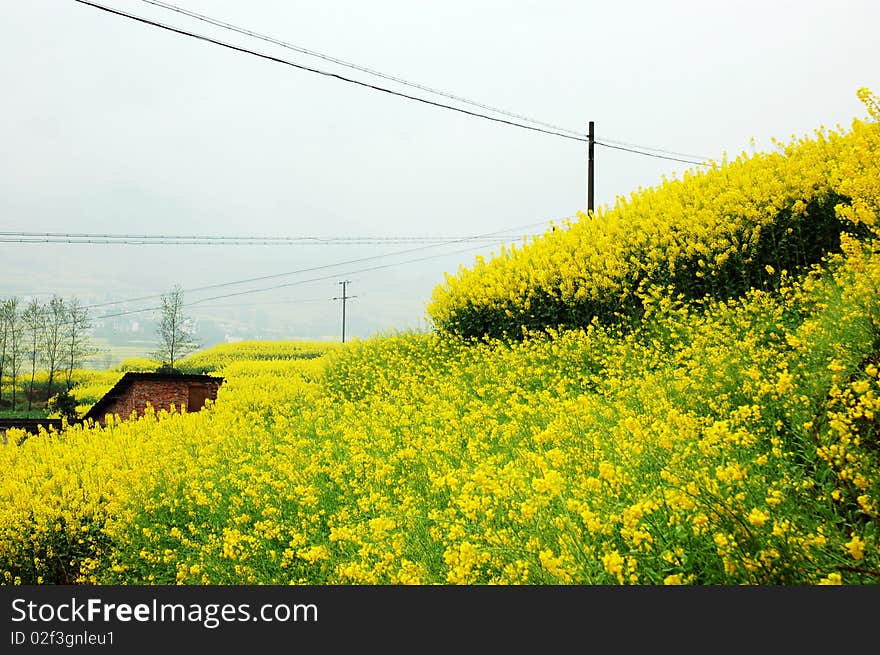
{"label": "lower slope of yellow rapeseed flowers, excluding the raised bank above it", "polygon": [[314,359],[271,343],[274,359],[230,355],[206,411],[0,449],[2,575],[858,580],[841,567],[880,564],[880,257],[845,249],[833,275],[780,295],[705,311],[658,299],[626,335],[400,334]]}

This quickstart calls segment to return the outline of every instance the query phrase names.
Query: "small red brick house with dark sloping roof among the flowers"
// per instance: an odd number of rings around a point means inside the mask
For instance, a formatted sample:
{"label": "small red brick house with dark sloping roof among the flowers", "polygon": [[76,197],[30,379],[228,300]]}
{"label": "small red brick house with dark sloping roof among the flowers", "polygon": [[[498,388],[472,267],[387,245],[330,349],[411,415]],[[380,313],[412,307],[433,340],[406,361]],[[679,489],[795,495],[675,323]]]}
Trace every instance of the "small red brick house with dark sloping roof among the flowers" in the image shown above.
{"label": "small red brick house with dark sloping roof among the flowers", "polygon": [[92,405],[82,420],[92,419],[103,424],[107,414],[115,414],[121,419],[129,418],[132,412],[141,416],[148,404],[156,411],[174,405],[178,410],[186,407],[189,412],[197,412],[204,407],[206,400],[217,399],[217,390],[222,383],[223,378],[210,375],[129,371]]}

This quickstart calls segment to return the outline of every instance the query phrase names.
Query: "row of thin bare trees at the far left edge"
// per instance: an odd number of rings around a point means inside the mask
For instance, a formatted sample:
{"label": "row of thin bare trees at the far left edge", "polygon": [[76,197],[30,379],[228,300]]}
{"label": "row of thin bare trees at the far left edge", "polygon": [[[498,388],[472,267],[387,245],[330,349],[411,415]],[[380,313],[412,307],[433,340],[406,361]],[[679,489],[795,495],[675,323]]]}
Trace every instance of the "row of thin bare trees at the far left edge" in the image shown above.
{"label": "row of thin bare trees at the far left edge", "polygon": [[53,295],[44,303],[36,298],[27,303],[20,298],[0,300],[0,407],[8,388],[8,402],[15,410],[19,382],[29,373],[30,385],[25,395],[30,412],[38,370],[48,372],[45,400],[53,396],[59,378],[70,391],[74,370],[94,352],[90,328],[88,310],[77,298],[65,300]]}

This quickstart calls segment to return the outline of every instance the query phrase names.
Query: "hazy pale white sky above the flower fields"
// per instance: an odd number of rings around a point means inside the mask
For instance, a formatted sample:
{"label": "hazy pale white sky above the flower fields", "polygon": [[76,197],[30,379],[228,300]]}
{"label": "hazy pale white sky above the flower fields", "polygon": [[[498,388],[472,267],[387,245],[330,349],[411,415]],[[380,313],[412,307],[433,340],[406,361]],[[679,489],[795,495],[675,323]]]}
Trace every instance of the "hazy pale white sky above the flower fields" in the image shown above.
{"label": "hazy pale white sky above the flower fields", "polygon": [[[481,111],[142,0],[96,1]],[[765,150],[773,137],[847,126],[864,115],[856,90],[880,92],[875,0],[171,2],[547,123],[585,131],[593,120],[600,138],[716,158],[748,150],[750,138]],[[73,0],[3,0],[0,89],[3,231],[462,237],[540,231],[586,205],[584,143],[367,90]],[[597,146],[596,202],[688,167]],[[131,298],[407,247],[0,243],[0,296]],[[187,300],[297,283],[193,313],[234,313],[246,324],[261,311],[277,327],[272,336],[333,337],[340,308],[330,299],[347,278],[358,295],[348,334],[369,336],[419,325],[443,272],[473,260],[476,251],[453,252],[462,247]],[[358,272],[443,253],[451,254]]]}

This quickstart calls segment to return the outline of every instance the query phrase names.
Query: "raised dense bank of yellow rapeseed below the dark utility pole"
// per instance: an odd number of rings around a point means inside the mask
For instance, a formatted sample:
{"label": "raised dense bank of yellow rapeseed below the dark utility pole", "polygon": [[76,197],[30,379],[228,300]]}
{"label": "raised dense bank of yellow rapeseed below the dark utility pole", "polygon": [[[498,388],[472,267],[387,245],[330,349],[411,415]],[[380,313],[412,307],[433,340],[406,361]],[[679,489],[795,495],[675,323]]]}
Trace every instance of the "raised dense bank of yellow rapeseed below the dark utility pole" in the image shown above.
{"label": "raised dense bank of yellow rapeseed below the dark utility pole", "polygon": [[477,258],[434,290],[434,324],[464,336],[518,337],[522,326],[638,315],[650,286],[688,298],[776,286],[784,272],[834,251],[841,230],[875,228],[880,117],[874,96],[859,95],[874,121],[689,171],[491,260]]}

